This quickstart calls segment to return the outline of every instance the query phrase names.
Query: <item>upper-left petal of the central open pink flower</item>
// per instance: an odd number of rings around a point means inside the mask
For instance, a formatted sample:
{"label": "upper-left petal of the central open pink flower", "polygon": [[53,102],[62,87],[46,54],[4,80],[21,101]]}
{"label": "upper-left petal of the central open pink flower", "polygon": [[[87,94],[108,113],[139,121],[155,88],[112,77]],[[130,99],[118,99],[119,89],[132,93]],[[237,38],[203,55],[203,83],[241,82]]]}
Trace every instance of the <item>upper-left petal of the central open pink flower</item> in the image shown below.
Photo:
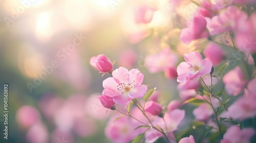
{"label": "upper-left petal of the central open pink flower", "polygon": [[129,71],[124,67],[119,67],[113,71],[112,76],[118,84],[127,83],[129,80]]}

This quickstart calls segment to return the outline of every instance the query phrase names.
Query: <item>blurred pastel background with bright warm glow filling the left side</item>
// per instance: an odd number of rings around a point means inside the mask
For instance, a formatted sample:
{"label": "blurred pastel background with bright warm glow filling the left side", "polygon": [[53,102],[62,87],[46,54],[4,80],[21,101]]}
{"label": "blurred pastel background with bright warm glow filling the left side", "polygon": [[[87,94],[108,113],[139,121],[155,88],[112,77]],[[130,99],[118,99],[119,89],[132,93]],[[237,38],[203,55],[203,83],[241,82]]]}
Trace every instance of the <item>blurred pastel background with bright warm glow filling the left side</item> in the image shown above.
{"label": "blurred pastel background with bright warm glow filling the left side", "polygon": [[[150,24],[134,22],[139,5],[157,9]],[[98,54],[117,60],[115,68],[139,68],[144,84],[157,87],[166,103],[175,98],[177,82],[164,73],[148,76],[144,57],[166,43],[178,44],[174,28],[186,25],[195,5],[187,6],[179,25],[168,1],[1,0],[0,7],[0,142],[110,142],[104,128],[113,111],[106,114],[97,99],[109,75],[101,78],[89,64]],[[67,50],[75,39],[78,44]],[[58,66],[50,67],[52,62]],[[2,130],[4,83],[8,141]]]}

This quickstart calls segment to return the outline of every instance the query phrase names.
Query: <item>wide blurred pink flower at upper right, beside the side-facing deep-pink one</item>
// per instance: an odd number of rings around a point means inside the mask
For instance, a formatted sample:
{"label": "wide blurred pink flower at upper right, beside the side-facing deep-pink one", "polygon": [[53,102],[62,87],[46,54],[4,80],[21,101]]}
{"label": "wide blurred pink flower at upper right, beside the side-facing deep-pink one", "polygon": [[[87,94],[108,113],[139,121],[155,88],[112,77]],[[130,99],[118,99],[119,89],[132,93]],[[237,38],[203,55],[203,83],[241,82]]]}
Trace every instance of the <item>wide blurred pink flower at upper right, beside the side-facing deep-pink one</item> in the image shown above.
{"label": "wide blurred pink flower at upper right, beside the side-facing deep-pink one", "polygon": [[[207,25],[210,35],[221,34],[224,32],[234,32],[247,20],[247,14],[236,7],[229,6],[225,12],[211,18]],[[242,26],[243,27],[243,26]]]}

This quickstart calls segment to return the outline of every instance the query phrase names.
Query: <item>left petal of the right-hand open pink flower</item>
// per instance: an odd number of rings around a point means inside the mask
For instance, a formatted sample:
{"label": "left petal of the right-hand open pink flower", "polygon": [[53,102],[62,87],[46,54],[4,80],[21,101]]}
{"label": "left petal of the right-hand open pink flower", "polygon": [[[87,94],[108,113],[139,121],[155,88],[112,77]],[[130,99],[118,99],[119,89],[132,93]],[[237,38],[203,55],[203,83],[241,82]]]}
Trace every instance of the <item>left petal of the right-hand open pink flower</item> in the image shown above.
{"label": "left petal of the right-hand open pink flower", "polygon": [[188,80],[188,73],[190,72],[190,69],[188,68],[189,64],[186,62],[181,62],[178,67],[177,67],[177,73],[178,73],[178,78],[177,82],[186,82]]}

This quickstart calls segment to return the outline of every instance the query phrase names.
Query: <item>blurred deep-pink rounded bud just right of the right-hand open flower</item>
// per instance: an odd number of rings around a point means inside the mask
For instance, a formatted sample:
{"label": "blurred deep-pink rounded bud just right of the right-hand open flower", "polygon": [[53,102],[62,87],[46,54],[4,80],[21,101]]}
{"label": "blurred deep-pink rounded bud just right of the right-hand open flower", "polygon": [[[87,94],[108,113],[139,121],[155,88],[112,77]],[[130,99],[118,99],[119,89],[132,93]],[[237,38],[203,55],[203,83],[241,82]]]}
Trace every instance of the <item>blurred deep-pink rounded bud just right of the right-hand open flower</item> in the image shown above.
{"label": "blurred deep-pink rounded bud just right of the right-hand open flower", "polygon": [[209,58],[214,66],[217,66],[223,59],[223,52],[220,46],[210,42],[204,49],[204,56]]}

